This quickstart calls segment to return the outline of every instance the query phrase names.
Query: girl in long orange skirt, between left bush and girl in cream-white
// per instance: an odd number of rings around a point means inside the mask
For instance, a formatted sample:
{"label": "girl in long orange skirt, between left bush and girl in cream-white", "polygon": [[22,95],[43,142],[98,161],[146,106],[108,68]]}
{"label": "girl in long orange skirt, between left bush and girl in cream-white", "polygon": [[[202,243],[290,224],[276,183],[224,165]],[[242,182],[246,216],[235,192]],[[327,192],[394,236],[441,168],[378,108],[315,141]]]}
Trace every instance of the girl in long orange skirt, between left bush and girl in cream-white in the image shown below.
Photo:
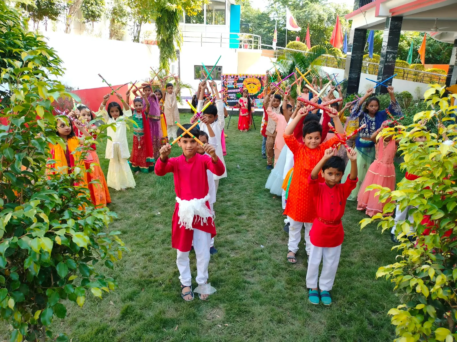
{"label": "girl in long orange skirt, between left bush and girl in cream-white", "polygon": [[[70,112],[70,115],[79,118],[81,123],[86,127],[89,126],[90,120],[95,117],[90,109],[82,104],[78,105],[78,107],[75,109],[74,114]],[[95,129],[96,125],[92,124],[90,128]],[[74,133],[77,138],[84,139],[84,133],[79,130],[76,125],[74,126]],[[87,187],[90,191],[90,198],[92,203],[94,203],[94,206],[106,206],[106,204],[111,203],[110,192],[108,191],[108,186],[106,185],[105,175],[101,170],[95,144],[90,145],[90,149],[85,155],[84,166],[86,170],[90,170],[89,172],[86,172]],[[97,180],[100,183],[90,183],[94,180]]]}

